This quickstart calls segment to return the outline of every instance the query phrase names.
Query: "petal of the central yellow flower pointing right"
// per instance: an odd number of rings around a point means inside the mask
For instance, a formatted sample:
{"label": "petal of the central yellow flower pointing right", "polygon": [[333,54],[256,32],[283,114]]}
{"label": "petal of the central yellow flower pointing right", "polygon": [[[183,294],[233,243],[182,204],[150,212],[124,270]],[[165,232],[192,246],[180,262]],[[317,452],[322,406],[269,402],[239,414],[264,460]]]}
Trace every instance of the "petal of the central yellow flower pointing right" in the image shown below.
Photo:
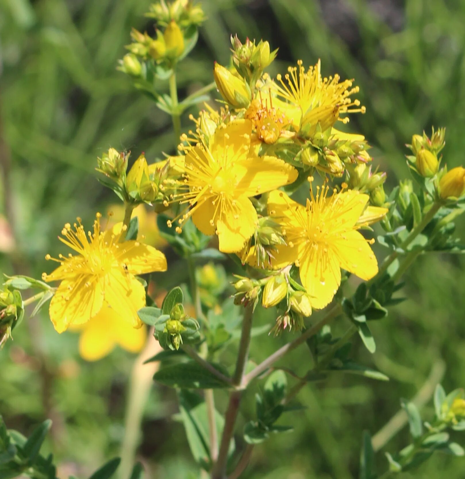
{"label": "petal of the central yellow flower pointing right", "polygon": [[234,173],[241,178],[237,191],[247,196],[262,194],[295,182],[298,171],[272,156],[245,158],[234,164]]}

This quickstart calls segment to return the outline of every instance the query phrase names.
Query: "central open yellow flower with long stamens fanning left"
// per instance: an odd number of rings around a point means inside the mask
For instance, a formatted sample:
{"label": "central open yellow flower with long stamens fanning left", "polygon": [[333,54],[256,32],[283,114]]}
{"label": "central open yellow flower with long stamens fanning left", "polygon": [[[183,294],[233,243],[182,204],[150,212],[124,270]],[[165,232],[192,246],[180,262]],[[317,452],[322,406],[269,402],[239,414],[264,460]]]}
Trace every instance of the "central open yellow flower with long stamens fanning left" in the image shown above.
{"label": "central open yellow flower with long stamens fanning left", "polygon": [[192,216],[202,233],[218,235],[220,251],[227,253],[241,251],[255,231],[257,212],[249,198],[298,176],[282,160],[255,156],[250,151],[251,134],[250,120],[235,120],[216,130],[208,148],[201,143],[189,148],[184,180],[173,195],[173,200],[191,206],[179,225]]}

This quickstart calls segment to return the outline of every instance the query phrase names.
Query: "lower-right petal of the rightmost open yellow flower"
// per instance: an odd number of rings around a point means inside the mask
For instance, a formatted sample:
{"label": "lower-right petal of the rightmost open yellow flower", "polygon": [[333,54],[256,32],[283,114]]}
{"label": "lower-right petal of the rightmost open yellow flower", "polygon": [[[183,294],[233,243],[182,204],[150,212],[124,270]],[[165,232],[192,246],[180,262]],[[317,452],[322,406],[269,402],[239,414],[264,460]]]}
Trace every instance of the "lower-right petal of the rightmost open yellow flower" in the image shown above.
{"label": "lower-right petal of the rightmost open yellow flower", "polygon": [[347,231],[333,242],[341,268],[367,281],[378,272],[376,256],[358,231]]}

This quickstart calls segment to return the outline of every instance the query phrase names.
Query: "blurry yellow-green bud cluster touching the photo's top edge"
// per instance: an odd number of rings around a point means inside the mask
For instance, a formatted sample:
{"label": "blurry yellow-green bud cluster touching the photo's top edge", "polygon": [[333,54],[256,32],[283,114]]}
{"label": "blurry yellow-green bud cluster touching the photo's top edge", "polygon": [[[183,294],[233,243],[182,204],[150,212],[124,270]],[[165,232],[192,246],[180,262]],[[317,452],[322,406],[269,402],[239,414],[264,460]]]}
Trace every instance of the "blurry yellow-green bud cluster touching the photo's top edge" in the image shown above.
{"label": "blurry yellow-green bud cluster touching the photo's top edge", "polygon": [[181,28],[199,26],[205,21],[205,14],[199,4],[194,4],[191,0],[175,0],[166,3],[160,0],[150,5],[148,18],[154,18],[160,25],[167,25],[174,20]]}

